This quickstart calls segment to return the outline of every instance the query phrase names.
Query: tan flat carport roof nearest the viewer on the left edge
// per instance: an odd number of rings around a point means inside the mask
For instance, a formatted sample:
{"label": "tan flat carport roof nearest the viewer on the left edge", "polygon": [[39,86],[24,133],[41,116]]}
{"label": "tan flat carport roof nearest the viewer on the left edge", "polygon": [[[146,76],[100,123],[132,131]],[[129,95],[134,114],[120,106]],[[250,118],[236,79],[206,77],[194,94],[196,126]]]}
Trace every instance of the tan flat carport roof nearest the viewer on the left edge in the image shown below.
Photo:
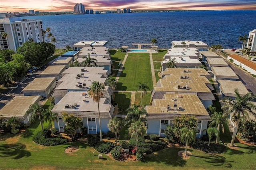
{"label": "tan flat carport roof nearest the viewer on the left edge", "polygon": [[0,115],[3,117],[24,117],[30,105],[38,103],[41,96],[15,96],[1,110]]}

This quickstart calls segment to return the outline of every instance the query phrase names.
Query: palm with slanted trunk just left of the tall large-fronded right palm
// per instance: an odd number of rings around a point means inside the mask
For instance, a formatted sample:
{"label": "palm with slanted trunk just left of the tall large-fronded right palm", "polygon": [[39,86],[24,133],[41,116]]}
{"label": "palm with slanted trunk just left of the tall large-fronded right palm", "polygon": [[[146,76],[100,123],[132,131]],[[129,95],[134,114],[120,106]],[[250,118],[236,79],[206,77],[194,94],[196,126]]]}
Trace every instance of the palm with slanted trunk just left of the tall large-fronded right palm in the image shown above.
{"label": "palm with slanted trunk just left of the tall large-fronded right palm", "polygon": [[[215,107],[213,107],[215,108]],[[216,112],[211,115],[211,123],[209,126],[217,127],[218,133],[220,132],[220,128],[222,128],[222,133],[224,133],[224,124],[228,123],[228,115],[223,114],[222,112]],[[218,142],[219,134],[216,136],[216,142]]]}

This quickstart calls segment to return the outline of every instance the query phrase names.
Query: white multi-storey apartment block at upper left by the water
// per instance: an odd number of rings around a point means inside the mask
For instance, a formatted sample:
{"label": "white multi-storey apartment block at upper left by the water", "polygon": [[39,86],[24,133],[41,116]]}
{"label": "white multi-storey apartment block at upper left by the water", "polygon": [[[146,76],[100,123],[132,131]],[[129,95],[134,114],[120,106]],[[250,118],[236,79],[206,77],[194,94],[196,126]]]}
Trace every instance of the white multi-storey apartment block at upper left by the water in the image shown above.
{"label": "white multi-storey apartment block at upper left by the water", "polygon": [[[30,38],[34,42],[43,42],[42,20],[27,20],[21,18],[1,18],[0,19],[0,49],[16,49]],[[8,36],[2,36],[6,32]]]}

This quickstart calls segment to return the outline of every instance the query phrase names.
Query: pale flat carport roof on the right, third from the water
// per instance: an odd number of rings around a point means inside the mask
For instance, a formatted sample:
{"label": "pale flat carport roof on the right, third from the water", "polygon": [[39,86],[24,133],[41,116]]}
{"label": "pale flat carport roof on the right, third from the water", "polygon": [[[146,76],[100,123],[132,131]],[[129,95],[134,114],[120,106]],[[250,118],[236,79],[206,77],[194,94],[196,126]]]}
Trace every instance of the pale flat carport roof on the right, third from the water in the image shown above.
{"label": "pale flat carport roof on the right, third from the water", "polygon": [[230,67],[211,67],[211,69],[217,78],[239,79]]}

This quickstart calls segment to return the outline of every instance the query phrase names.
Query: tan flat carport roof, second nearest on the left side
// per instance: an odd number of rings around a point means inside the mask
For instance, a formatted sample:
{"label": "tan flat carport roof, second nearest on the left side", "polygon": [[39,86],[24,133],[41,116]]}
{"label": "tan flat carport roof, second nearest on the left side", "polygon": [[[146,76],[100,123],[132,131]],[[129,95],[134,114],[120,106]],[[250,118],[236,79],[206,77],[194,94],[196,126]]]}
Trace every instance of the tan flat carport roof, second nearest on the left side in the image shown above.
{"label": "tan flat carport roof, second nearest on the left side", "polygon": [[50,86],[56,81],[55,77],[42,77],[35,78],[31,83],[29,83],[22,91],[30,90],[48,90]]}

